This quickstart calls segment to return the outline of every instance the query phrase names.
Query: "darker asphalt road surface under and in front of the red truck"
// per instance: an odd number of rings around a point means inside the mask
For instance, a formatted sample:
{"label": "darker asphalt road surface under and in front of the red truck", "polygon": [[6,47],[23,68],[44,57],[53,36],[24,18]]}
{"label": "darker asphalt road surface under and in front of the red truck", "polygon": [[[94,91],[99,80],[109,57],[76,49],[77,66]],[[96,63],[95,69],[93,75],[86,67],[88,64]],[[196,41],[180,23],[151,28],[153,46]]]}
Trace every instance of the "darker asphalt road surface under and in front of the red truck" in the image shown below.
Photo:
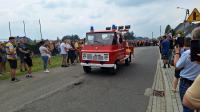
{"label": "darker asphalt road surface under and in front of the red truck", "polygon": [[[145,112],[158,60],[157,47],[136,49],[135,62],[117,75],[95,70],[84,81],[25,105],[17,112]],[[81,67],[76,69],[82,69]]]}

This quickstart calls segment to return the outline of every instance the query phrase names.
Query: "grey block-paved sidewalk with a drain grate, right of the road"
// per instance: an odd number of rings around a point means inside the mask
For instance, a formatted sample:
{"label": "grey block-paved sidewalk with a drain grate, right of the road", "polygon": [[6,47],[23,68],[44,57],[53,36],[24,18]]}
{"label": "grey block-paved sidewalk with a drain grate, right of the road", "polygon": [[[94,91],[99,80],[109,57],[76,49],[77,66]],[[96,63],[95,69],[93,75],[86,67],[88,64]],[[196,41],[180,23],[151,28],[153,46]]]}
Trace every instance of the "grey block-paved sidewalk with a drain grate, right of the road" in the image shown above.
{"label": "grey block-paved sidewalk with a drain grate, right of the road", "polygon": [[182,112],[179,93],[172,91],[174,67],[164,69],[162,65],[159,60],[153,86],[146,90],[150,95],[146,112]]}

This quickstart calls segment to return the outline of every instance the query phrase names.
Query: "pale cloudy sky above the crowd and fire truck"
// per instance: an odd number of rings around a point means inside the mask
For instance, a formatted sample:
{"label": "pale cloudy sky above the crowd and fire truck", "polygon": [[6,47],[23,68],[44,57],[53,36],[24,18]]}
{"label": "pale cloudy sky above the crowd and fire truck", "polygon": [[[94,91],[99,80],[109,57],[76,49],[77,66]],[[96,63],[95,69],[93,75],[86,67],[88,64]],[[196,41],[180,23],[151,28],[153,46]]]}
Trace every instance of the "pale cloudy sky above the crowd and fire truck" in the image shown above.
{"label": "pale cloudy sky above the crowd and fire truck", "polygon": [[131,25],[136,36],[154,37],[164,33],[167,24],[172,28],[183,22],[185,10],[200,10],[199,0],[0,0],[0,39],[12,36],[40,39],[39,19],[44,39],[78,34],[85,37],[90,26],[95,30],[113,24]]}

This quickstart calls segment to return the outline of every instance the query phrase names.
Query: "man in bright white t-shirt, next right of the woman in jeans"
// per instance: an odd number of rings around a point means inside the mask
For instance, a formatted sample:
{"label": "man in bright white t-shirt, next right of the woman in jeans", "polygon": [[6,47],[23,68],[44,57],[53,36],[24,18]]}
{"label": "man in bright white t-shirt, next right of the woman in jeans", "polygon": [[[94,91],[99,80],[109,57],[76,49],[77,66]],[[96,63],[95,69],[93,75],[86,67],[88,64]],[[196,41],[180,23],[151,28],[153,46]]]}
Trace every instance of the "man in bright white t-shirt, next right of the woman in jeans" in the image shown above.
{"label": "man in bright white t-shirt, next right of the woman in jeans", "polygon": [[62,55],[62,65],[61,67],[68,67],[67,65],[67,57],[68,57],[68,45],[67,40],[63,40],[60,44],[60,54]]}

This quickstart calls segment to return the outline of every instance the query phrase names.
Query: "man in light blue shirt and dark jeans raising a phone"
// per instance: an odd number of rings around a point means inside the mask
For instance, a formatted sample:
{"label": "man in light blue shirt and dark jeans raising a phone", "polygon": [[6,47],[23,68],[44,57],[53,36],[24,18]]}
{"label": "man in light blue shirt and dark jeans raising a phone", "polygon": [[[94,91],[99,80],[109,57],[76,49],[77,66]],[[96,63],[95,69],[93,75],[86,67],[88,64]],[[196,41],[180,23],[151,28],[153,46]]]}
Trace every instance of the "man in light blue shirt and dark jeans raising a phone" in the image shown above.
{"label": "man in light blue shirt and dark jeans raising a phone", "polygon": [[[192,32],[192,40],[200,40],[200,27]],[[192,45],[191,45],[192,46]],[[180,72],[179,94],[181,101],[187,89],[193,84],[196,77],[200,74],[200,65],[191,61],[191,50],[187,50],[180,56],[180,49],[175,49],[176,69],[182,69]],[[183,105],[183,112],[193,112],[192,109]]]}

